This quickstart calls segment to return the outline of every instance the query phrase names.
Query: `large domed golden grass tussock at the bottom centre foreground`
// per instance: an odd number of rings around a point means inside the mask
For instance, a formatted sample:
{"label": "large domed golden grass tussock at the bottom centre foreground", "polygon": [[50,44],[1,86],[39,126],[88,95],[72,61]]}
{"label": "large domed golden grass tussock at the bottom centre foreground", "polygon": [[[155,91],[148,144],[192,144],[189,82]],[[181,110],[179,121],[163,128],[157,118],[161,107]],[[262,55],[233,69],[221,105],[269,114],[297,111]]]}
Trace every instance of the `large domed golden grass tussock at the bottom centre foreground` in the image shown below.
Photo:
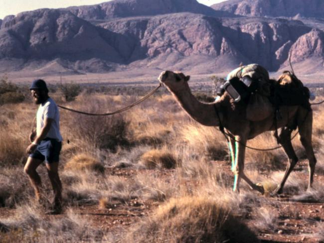
{"label": "large domed golden grass tussock at the bottom centre foreground", "polygon": [[258,242],[228,208],[203,197],[172,198],[128,236],[130,242]]}

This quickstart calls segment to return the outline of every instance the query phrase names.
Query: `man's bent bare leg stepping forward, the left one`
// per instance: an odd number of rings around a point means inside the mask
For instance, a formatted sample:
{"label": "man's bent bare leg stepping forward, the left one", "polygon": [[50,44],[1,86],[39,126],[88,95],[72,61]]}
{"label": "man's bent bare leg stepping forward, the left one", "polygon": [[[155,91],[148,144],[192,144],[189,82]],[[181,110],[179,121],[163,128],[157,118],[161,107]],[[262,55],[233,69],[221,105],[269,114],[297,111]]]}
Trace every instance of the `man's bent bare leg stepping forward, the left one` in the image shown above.
{"label": "man's bent bare leg stepping forward, the left one", "polygon": [[41,180],[36,171],[37,167],[42,163],[42,160],[28,157],[24,172],[28,175],[29,181],[34,188],[36,200],[39,202],[41,198]]}

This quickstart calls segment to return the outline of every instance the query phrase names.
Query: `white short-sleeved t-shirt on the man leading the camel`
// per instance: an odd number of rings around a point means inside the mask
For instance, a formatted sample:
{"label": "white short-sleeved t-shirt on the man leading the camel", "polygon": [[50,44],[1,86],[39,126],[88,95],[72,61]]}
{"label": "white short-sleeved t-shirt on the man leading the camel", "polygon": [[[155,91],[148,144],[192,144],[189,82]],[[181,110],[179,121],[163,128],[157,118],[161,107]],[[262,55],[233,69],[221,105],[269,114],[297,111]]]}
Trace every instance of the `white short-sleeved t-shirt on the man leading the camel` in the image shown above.
{"label": "white short-sleeved t-shirt on the man leading the camel", "polygon": [[60,133],[60,114],[58,107],[55,102],[48,98],[43,104],[40,104],[37,115],[36,115],[36,134],[40,134],[42,127],[44,126],[45,118],[53,119],[51,127],[46,135],[46,137],[57,139],[59,142],[63,140]]}

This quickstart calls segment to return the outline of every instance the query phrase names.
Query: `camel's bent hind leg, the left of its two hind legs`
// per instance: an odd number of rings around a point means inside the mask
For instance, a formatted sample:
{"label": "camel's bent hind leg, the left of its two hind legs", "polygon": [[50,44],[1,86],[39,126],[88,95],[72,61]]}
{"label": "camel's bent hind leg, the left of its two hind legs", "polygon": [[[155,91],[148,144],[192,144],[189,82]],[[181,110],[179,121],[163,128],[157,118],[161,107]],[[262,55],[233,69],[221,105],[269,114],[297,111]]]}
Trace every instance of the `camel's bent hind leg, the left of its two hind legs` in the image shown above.
{"label": "camel's bent hind leg, the left of its two hind legs", "polygon": [[273,192],[273,194],[283,193],[283,188],[284,188],[284,185],[288,179],[288,176],[293,171],[295,165],[298,162],[298,158],[296,156],[296,153],[294,151],[292,141],[291,141],[291,133],[292,133],[291,129],[289,129],[288,127],[283,127],[279,134],[279,142],[283,146],[283,149],[285,150],[285,152],[287,154],[288,164],[287,164],[285,175],[284,175],[283,179],[281,180],[280,184],[278,185],[278,187],[276,188],[276,190]]}

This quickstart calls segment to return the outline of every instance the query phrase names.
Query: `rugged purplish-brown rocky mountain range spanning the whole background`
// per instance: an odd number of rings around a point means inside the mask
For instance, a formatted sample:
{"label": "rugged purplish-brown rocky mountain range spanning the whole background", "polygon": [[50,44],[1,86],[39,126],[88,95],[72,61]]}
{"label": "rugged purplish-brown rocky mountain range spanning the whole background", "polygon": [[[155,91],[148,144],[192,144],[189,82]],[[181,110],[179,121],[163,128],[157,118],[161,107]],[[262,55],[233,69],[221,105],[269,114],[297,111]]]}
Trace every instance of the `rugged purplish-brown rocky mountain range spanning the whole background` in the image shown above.
{"label": "rugged purplish-brown rocky mountain range spanning the whole background", "polygon": [[[41,74],[177,69],[227,72],[241,62],[323,72],[321,0],[113,0],[0,20],[0,71]],[[280,17],[279,17],[280,16]]]}

